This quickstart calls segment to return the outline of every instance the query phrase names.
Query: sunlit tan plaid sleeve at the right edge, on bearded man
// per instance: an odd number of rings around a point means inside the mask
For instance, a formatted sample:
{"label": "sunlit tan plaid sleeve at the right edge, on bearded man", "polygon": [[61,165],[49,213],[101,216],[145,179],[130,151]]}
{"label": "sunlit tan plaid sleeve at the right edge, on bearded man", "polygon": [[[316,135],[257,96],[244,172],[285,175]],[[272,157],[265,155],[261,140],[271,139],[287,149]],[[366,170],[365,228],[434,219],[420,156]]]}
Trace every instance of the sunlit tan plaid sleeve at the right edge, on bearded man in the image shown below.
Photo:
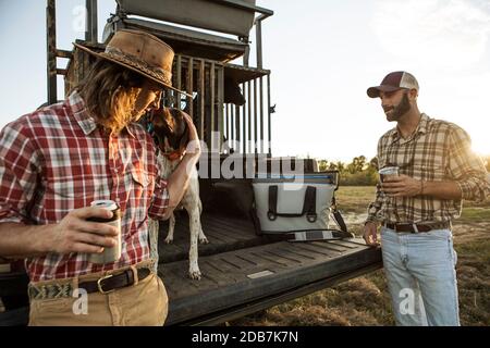
{"label": "sunlit tan plaid sleeve at the right edge, on bearded man", "polygon": [[490,194],[490,179],[480,157],[471,150],[469,135],[454,127],[449,135],[449,172],[466,200],[483,201]]}

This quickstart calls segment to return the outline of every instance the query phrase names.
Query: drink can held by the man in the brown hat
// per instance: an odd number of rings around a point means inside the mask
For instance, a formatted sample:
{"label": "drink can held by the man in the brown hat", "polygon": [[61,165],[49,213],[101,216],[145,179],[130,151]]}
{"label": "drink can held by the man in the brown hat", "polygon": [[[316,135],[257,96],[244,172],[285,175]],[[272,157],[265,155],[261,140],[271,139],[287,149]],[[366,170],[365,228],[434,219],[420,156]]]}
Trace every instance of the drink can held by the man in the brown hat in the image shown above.
{"label": "drink can held by the man in the brown hat", "polygon": [[121,258],[121,210],[117,202],[113,200],[95,200],[90,203],[90,207],[102,208],[112,211],[112,217],[100,219],[90,217],[88,221],[103,222],[111,226],[114,226],[119,231],[118,241],[115,246],[111,248],[103,248],[101,253],[90,253],[88,256],[88,261],[93,263],[111,263],[115,262]]}

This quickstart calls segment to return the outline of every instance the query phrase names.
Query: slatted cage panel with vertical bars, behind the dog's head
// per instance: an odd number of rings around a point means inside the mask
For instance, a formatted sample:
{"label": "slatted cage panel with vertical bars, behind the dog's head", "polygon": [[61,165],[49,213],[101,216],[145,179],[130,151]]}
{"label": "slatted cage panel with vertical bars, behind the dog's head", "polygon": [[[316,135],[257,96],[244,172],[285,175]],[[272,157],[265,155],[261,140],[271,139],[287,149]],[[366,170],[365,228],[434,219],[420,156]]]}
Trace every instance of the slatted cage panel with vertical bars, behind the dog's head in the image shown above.
{"label": "slatted cage panel with vertical bars, behind the dog's head", "polygon": [[[187,97],[185,108],[198,120],[199,138],[207,144],[211,152],[222,148],[221,141],[224,136],[232,146],[242,141],[241,147],[234,149],[235,152],[271,156],[270,151],[265,152],[266,149],[270,149],[265,147],[265,141],[270,144],[271,134],[270,112],[265,110],[266,105],[270,105],[269,84],[267,94],[264,90],[264,77],[266,76],[269,83],[270,72],[261,71],[264,75],[250,77],[241,84],[247,102],[243,107],[237,107],[224,102],[224,69],[226,66],[230,64],[175,54],[173,71],[175,87],[185,88],[188,94],[197,92],[200,96],[197,103]],[[175,99],[175,96],[166,96],[163,101],[166,107],[182,109],[181,100]],[[267,111],[267,120],[265,111]],[[265,139],[266,127],[268,128],[267,139]],[[211,132],[219,132],[221,137],[211,138]],[[226,154],[225,152],[228,149],[222,154]]]}

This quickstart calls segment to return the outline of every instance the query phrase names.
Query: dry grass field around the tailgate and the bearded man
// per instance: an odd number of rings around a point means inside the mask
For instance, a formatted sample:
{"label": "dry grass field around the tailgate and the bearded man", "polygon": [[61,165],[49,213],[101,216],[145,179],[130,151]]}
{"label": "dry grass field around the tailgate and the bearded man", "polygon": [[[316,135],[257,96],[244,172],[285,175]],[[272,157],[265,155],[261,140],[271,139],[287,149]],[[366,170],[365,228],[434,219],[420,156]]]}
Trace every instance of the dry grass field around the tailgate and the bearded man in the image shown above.
{"label": "dry grass field around the tailgate and the bearded man", "polygon": [[[341,187],[338,206],[360,234],[373,187]],[[462,325],[490,325],[490,202],[464,203],[454,222]],[[383,271],[230,322],[231,325],[394,325]]]}

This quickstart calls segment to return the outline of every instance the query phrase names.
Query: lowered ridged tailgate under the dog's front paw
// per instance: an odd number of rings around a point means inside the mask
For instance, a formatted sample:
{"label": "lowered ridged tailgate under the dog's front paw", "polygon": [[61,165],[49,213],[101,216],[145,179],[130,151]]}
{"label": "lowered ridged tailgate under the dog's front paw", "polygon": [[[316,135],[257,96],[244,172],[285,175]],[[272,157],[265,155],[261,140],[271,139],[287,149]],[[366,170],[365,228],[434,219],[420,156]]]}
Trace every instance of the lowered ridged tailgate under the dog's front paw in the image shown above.
{"label": "lowered ridged tailgate under the dog's front paw", "polygon": [[359,239],[277,241],[159,265],[170,299],[166,325],[217,324],[381,268],[380,249]]}

